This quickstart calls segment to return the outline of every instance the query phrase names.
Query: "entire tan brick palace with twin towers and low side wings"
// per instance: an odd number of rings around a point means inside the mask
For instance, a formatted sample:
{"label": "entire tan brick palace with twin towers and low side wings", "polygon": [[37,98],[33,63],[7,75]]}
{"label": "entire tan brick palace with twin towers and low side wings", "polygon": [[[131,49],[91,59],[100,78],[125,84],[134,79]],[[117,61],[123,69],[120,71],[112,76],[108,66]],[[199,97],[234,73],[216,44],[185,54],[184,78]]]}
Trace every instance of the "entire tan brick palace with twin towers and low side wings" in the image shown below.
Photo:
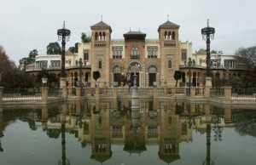
{"label": "entire tan brick palace with twin towers and low side wings", "polygon": [[[128,31],[123,39],[112,39],[112,28],[103,21],[90,26],[90,29],[91,41],[79,43],[77,54],[66,54],[67,81],[73,86],[80,79],[80,58],[83,61],[81,79],[92,87],[96,83],[92,78],[93,71],[101,73],[97,80],[100,87],[121,85],[119,78],[124,74],[128,79],[136,74],[139,87],[152,87],[155,84],[174,87],[175,71],[183,71],[181,82],[186,83],[189,82],[189,70],[192,70],[190,78],[195,86],[200,77],[206,77],[206,52],[200,50],[192,54],[192,43],[180,42],[179,26],[169,20],[158,27],[157,39],[147,39],[147,34],[142,31]],[[192,65],[188,65],[189,58]],[[212,68],[216,68],[213,56],[211,60]],[[218,62],[218,77],[224,77],[226,71],[222,60]],[[236,68],[234,56],[227,56],[227,60],[230,67]],[[44,66],[59,75],[60,64],[61,55],[38,56],[35,64],[26,66],[26,71],[36,73]]]}

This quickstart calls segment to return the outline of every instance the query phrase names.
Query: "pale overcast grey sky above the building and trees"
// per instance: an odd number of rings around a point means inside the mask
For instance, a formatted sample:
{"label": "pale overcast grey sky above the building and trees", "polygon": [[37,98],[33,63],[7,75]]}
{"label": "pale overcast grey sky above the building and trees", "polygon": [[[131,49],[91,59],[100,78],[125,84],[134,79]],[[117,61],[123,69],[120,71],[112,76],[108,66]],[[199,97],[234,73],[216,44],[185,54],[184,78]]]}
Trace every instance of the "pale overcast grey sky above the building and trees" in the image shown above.
{"label": "pale overcast grey sky above the building and trees", "polygon": [[71,31],[69,48],[101,20],[111,26],[112,39],[123,39],[130,29],[157,39],[168,18],[180,26],[179,40],[193,43],[193,53],[206,48],[201,29],[207,20],[215,28],[211,49],[234,54],[256,45],[254,0],[0,0],[0,45],[19,65],[32,49],[43,55],[49,43],[61,45],[57,30],[63,21]]}

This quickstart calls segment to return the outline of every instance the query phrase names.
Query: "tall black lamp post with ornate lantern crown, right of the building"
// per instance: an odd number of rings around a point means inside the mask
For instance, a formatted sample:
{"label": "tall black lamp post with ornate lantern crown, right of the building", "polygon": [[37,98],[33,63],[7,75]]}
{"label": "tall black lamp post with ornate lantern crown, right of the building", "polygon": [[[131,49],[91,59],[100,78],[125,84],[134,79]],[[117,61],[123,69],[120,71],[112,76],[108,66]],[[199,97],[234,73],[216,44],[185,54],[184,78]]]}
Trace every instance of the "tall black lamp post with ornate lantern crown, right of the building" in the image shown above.
{"label": "tall black lamp post with ornate lantern crown, right of the building", "polygon": [[213,27],[209,27],[209,20],[207,20],[207,27],[201,29],[201,36],[203,40],[207,40],[207,77],[211,77],[210,75],[210,38],[214,38],[215,29]]}

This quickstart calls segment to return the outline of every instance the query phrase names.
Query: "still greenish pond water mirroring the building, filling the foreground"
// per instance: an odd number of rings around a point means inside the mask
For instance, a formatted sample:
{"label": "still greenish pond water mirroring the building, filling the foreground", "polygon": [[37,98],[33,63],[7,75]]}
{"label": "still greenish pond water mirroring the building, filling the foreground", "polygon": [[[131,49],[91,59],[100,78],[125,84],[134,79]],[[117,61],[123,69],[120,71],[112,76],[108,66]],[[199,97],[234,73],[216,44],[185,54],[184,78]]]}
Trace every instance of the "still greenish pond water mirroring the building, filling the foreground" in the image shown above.
{"label": "still greenish pond water mirroring the building, filling the foreground", "polygon": [[253,165],[256,108],[141,100],[3,107],[1,165]]}

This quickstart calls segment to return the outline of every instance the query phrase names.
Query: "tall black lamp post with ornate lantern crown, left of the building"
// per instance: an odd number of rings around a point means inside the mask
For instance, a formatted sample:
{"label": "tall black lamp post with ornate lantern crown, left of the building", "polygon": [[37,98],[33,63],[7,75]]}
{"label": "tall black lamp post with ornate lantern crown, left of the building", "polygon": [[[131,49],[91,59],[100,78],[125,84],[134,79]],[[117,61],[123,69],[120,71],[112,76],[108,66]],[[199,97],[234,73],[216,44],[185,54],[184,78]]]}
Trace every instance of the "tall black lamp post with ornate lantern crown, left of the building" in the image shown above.
{"label": "tall black lamp post with ornate lantern crown, left of the building", "polygon": [[61,40],[61,87],[66,87],[66,80],[65,80],[65,45],[66,42],[69,40],[70,31],[65,28],[65,21],[63,23],[63,28],[57,31],[59,40]]}

